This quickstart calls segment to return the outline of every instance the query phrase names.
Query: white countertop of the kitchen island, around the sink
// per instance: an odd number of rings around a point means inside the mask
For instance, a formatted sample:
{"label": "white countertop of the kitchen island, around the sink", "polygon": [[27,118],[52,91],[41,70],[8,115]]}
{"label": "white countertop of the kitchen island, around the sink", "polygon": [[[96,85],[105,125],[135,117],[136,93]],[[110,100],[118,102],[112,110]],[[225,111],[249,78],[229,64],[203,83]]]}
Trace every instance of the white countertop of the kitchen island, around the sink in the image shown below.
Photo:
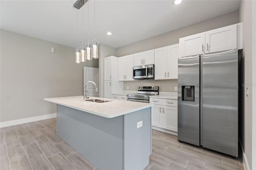
{"label": "white countertop of the kitchen island, around the sink", "polygon": [[[90,99],[104,98],[90,97]],[[104,99],[110,102],[96,103],[91,101],[84,101],[84,96],[54,97],[45,98],[44,100],[106,118],[118,117],[134,111],[139,111],[141,109],[152,107],[154,105],[151,103],[141,103],[114,99]]]}

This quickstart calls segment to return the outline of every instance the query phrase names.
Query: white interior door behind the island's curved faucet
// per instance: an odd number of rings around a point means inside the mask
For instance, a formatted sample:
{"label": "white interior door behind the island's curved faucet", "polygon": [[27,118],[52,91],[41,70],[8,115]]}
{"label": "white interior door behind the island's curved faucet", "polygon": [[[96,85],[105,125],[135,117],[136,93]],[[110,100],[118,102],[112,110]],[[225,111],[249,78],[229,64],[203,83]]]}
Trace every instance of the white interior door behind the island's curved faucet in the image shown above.
{"label": "white interior door behind the island's curved faucet", "polygon": [[[84,84],[87,81],[94,81],[97,84],[99,89],[99,69],[94,67],[84,67]],[[92,83],[89,83],[86,86],[88,95],[92,97],[99,97],[99,92],[96,92],[95,86]]]}

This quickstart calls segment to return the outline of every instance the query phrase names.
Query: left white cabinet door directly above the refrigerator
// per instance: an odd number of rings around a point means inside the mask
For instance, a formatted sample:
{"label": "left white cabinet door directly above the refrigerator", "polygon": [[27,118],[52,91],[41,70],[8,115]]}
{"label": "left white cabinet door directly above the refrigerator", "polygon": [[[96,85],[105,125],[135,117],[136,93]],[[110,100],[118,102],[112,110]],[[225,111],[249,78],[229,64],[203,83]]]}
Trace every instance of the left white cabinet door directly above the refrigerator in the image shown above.
{"label": "left white cabinet door directly above the refrigerator", "polygon": [[204,53],[205,33],[180,38],[180,57]]}

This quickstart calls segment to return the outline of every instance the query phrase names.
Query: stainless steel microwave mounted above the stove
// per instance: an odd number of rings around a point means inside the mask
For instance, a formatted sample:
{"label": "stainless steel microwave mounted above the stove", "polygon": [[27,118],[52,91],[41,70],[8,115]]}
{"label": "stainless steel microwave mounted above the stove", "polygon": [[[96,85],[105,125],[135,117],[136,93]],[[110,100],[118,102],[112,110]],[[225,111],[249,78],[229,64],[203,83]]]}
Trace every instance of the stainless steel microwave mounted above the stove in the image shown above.
{"label": "stainless steel microwave mounted above the stove", "polygon": [[154,64],[133,67],[134,79],[154,79]]}

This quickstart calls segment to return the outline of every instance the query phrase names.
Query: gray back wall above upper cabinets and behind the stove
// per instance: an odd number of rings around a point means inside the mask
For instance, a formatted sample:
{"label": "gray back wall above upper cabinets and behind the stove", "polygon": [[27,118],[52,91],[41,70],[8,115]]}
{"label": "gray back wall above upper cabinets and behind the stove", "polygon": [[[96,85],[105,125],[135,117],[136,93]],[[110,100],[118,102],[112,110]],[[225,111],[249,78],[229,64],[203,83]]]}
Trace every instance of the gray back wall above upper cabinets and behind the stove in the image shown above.
{"label": "gray back wall above upper cabinets and behind the stove", "polygon": [[[116,49],[116,56],[121,57],[124,55],[129,55],[133,53],[138,53],[141,51],[146,51],[150,49],[155,49],[159,47],[164,47],[167,45],[173,45],[179,43],[179,38],[197,34],[200,32],[205,32],[208,30],[213,30],[216,28],[236,24],[239,22],[239,12],[231,12],[223,16],[212,18],[203,22],[199,22],[178,30],[167,32],[146,40],[135,42],[123,47]],[[152,80],[141,80],[135,82],[124,82],[124,90],[136,90],[138,85],[159,85],[160,91],[174,91],[174,86],[178,85],[177,80],[163,80],[163,81],[152,81]]]}

